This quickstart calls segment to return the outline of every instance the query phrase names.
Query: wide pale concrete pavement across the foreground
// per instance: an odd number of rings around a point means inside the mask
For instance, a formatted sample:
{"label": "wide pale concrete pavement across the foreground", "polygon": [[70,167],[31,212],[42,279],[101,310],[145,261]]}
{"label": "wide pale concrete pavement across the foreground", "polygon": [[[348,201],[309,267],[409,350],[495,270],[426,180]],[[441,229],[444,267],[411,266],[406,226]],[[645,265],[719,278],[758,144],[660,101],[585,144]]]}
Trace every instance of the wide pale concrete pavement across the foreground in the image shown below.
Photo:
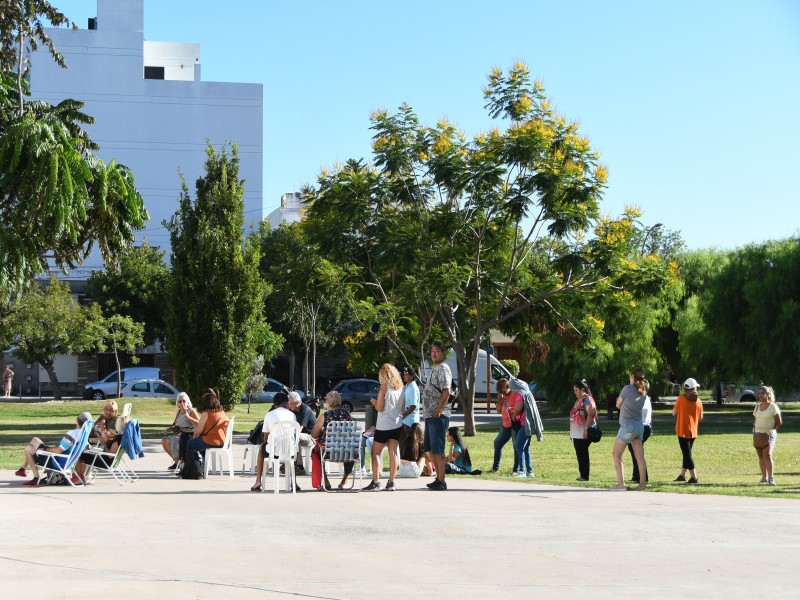
{"label": "wide pale concrete pavement across the foreground", "polygon": [[[794,500],[399,479],[395,493],[181,480],[157,443],[120,486],[0,471],[6,598],[660,598],[796,595]],[[335,476],[334,476],[335,479]],[[366,485],[366,480],[364,485]],[[310,478],[300,477],[303,490]],[[268,481],[268,487],[271,481]]]}

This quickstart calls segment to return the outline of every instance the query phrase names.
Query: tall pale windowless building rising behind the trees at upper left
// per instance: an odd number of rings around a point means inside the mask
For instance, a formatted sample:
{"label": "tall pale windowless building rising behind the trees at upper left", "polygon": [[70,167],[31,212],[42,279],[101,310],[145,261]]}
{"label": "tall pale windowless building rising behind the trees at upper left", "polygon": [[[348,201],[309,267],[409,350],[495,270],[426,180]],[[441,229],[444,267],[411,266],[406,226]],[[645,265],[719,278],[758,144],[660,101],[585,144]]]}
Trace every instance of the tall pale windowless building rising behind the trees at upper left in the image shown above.
{"label": "tall pale windowless building rising behind the trees at upper left", "polygon": [[[97,0],[88,29],[48,29],[68,68],[56,65],[46,49],[35,52],[32,97],[86,103],[84,112],[96,119],[88,131],[99,156],[133,170],[150,212],[137,240],[146,237],[165,250],[169,236],[161,222],[177,208],[178,171],[194,197],[206,141],[217,149],[238,143],[249,230],[263,218],[263,86],[201,81],[199,44],[145,41],[143,2]],[[100,267],[99,257],[86,267]]]}

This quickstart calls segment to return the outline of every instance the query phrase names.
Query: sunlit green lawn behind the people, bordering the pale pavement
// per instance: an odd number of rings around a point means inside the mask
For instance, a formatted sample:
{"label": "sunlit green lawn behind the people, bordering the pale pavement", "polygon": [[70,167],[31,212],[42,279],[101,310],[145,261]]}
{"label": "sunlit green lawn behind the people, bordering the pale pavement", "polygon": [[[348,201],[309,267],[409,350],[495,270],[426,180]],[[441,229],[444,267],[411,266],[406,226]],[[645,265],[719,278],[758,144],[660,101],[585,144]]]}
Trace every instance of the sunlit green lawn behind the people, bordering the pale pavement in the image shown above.
{"label": "sunlit green lawn behind the people, bordering the pale pavement", "polygon": [[[158,439],[164,428],[172,423],[175,405],[172,401],[156,398],[133,400],[133,415],[142,426],[145,439]],[[33,436],[55,443],[67,431],[81,411],[93,415],[102,412],[104,401],[69,401],[43,403],[0,403],[0,468],[14,470],[22,462],[22,448]],[[705,417],[700,424],[699,437],[694,447],[699,483],[689,485],[673,480],[681,466],[681,454],[674,434],[674,419],[670,409],[656,409],[653,415],[655,434],[645,444],[650,474],[649,491],[691,494],[722,494],[800,499],[800,404],[779,404],[784,424],[778,434],[774,451],[775,487],[759,485],[760,472],[755,450],[752,448],[753,404],[718,406],[705,404]],[[250,414],[246,405],[237,405],[234,433],[246,435],[260,421],[269,404],[256,404]],[[601,415],[603,439],[592,444],[591,479],[578,482],[577,460],[569,439],[569,421],[566,416],[543,414],[544,441],[531,443],[531,456],[536,473],[534,480],[517,480],[535,484],[569,485],[587,488],[610,488],[616,483],[611,448],[617,433],[617,422]],[[493,441],[499,429],[496,424],[480,425],[475,437],[466,438],[474,468],[481,469],[488,480],[511,477],[513,450],[511,442],[503,449],[500,472],[489,473],[494,454]],[[241,444],[241,441],[239,441]],[[388,459],[385,459],[388,462]],[[628,454],[623,458],[626,479],[630,479],[631,462]],[[385,475],[384,475],[385,476]],[[454,479],[466,476],[448,476]],[[630,487],[633,484],[629,483]]]}

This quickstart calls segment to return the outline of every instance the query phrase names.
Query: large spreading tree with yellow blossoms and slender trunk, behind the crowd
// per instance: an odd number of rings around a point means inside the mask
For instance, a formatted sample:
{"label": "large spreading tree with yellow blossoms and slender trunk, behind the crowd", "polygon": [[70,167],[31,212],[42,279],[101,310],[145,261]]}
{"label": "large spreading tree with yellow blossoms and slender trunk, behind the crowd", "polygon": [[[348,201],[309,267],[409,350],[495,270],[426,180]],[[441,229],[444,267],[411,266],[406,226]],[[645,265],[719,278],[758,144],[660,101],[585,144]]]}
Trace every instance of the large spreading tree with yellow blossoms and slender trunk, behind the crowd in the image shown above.
{"label": "large spreading tree with yellow blossoms and slender trunk, behind the crowd", "polygon": [[362,338],[385,339],[387,354],[408,362],[431,336],[449,341],[468,435],[491,329],[575,296],[639,294],[667,277],[663,261],[628,260],[638,214],[598,220],[599,154],[524,64],[493,70],[484,95],[506,130],[468,140],[446,119],[421,125],[406,105],[376,111],[374,166],[350,160],[304,190],[309,238],[352,266],[361,306],[371,305],[377,327]]}

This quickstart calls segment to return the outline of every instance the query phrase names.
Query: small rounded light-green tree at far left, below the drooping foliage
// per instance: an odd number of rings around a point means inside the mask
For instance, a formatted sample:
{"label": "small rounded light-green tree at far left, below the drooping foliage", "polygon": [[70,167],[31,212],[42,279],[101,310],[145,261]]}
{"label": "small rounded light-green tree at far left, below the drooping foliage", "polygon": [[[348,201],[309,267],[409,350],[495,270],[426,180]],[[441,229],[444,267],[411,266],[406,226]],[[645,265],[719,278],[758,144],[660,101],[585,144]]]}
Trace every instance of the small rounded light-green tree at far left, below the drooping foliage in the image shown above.
{"label": "small rounded light-green tree at far left, below the drooping foliage", "polygon": [[[25,362],[38,362],[61,398],[55,371],[57,354],[79,354],[109,347],[134,351],[142,343],[142,325],[119,315],[103,317],[97,305],[81,306],[70,296],[69,286],[51,277],[44,288],[31,285],[15,302],[4,320],[3,342]],[[119,364],[119,363],[118,363]]]}

